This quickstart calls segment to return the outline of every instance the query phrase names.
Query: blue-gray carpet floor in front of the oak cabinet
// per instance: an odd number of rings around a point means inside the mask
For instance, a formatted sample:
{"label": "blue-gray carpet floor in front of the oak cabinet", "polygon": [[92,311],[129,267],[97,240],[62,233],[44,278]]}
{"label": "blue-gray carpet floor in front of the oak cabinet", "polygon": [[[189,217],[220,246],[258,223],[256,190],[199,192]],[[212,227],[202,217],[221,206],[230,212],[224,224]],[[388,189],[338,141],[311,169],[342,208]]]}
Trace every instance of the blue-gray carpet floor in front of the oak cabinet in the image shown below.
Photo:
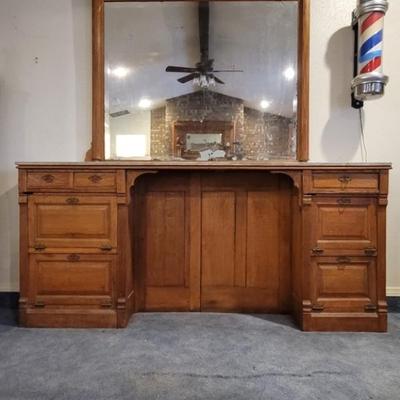
{"label": "blue-gray carpet floor in front of the oak cabinet", "polygon": [[23,329],[0,311],[1,400],[400,399],[387,334],[303,333],[290,317],[138,314],[124,330]]}

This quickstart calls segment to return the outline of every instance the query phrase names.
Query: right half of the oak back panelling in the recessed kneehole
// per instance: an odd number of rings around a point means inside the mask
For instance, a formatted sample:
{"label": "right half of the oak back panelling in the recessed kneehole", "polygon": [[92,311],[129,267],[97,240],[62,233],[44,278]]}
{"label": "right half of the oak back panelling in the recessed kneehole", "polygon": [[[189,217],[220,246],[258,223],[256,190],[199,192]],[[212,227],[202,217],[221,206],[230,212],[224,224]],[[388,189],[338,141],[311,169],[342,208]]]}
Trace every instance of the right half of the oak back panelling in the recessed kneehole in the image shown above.
{"label": "right half of the oak back panelling in the recessed kneehole", "polygon": [[203,176],[202,311],[285,312],[291,186],[266,174]]}

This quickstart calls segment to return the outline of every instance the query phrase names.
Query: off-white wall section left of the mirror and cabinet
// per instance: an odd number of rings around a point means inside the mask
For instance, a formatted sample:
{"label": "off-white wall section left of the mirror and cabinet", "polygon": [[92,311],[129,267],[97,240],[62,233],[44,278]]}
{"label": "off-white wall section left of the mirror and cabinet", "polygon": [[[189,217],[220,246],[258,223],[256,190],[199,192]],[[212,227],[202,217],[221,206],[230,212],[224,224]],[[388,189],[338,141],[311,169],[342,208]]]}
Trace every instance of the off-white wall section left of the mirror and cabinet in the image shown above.
{"label": "off-white wall section left of the mirror and cabinet", "polygon": [[0,291],[18,290],[15,161],[82,161],[91,130],[90,0],[0,1]]}

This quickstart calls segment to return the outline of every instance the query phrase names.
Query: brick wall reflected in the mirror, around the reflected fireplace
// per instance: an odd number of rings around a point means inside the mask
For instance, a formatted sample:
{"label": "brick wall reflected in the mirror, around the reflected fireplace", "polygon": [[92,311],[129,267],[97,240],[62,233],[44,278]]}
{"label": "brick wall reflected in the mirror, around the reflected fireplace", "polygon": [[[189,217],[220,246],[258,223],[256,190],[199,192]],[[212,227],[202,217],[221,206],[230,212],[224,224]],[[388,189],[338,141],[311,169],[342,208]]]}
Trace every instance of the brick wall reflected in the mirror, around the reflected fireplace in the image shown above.
{"label": "brick wall reflected in the mirror, around the reflected fireplace", "polygon": [[235,141],[249,159],[294,159],[292,120],[245,107],[243,100],[212,91],[197,91],[166,101],[151,112],[151,156],[172,154],[172,129],[177,121],[227,121],[235,127]]}

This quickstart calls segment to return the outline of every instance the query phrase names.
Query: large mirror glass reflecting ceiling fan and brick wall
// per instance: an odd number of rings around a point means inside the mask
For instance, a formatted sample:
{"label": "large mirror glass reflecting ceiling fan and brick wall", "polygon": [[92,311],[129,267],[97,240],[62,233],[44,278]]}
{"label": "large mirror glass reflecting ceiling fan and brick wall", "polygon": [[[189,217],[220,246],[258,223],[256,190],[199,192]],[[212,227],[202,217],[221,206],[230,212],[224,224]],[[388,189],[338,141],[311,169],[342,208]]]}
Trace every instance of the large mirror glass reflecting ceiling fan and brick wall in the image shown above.
{"label": "large mirror glass reflecting ceiling fan and brick wall", "polygon": [[300,11],[106,1],[105,159],[296,160]]}

